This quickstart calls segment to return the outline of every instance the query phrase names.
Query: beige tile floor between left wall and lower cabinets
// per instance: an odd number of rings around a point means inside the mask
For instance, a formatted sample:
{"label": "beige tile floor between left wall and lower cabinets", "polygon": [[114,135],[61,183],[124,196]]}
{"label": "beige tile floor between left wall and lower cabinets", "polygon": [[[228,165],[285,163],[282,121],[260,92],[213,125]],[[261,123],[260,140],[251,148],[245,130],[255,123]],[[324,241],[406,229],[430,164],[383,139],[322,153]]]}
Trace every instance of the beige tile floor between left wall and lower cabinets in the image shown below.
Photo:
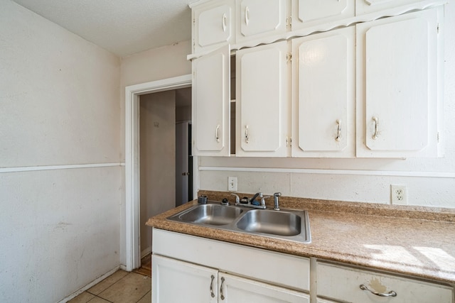
{"label": "beige tile floor between left wall and lower cabinets", "polygon": [[117,270],[68,303],[150,303],[151,279],[136,272]]}

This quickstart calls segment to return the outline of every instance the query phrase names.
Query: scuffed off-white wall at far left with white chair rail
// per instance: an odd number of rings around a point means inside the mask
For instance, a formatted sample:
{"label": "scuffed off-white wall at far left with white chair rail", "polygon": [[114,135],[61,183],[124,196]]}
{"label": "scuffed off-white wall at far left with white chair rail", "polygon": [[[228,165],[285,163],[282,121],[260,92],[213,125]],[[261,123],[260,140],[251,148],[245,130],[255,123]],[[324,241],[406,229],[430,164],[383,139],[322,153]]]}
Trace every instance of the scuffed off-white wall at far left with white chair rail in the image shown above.
{"label": "scuffed off-white wall at far left with white chair rail", "polygon": [[120,60],[0,6],[0,300],[58,302],[120,264]]}

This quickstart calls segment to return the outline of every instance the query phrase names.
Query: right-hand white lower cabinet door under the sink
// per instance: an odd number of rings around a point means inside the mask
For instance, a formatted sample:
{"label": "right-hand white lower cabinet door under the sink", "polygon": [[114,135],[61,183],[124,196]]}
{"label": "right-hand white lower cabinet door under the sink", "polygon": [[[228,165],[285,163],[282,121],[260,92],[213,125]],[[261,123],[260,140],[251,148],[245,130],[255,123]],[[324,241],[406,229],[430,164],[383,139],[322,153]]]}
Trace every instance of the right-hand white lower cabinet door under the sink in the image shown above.
{"label": "right-hand white lower cabinet door under the sink", "polygon": [[309,303],[309,294],[267,285],[255,280],[220,273],[220,302],[225,303]]}

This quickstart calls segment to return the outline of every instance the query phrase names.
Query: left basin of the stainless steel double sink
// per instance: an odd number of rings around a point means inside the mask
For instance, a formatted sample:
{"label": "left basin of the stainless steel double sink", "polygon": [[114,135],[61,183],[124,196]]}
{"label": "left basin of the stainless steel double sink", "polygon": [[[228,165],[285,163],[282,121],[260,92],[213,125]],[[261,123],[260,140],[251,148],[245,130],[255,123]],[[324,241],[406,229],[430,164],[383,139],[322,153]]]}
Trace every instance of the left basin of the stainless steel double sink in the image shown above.
{"label": "left basin of the stainless steel double sink", "polygon": [[[190,222],[194,224],[226,225],[237,219],[243,209],[236,206],[225,206],[220,204],[202,204],[177,214],[177,221]],[[171,217],[170,219],[173,219]]]}

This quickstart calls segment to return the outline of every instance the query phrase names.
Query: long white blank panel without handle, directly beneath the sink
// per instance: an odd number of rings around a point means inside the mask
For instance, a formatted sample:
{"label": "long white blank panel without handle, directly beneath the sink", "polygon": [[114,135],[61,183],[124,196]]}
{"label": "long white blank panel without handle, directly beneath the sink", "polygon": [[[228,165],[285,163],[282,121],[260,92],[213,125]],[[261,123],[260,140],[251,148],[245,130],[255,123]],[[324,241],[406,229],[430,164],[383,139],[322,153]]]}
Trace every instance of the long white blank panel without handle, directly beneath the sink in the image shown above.
{"label": "long white blank panel without handle, directly beneath the sink", "polygon": [[154,228],[156,255],[309,292],[310,260],[284,253]]}

